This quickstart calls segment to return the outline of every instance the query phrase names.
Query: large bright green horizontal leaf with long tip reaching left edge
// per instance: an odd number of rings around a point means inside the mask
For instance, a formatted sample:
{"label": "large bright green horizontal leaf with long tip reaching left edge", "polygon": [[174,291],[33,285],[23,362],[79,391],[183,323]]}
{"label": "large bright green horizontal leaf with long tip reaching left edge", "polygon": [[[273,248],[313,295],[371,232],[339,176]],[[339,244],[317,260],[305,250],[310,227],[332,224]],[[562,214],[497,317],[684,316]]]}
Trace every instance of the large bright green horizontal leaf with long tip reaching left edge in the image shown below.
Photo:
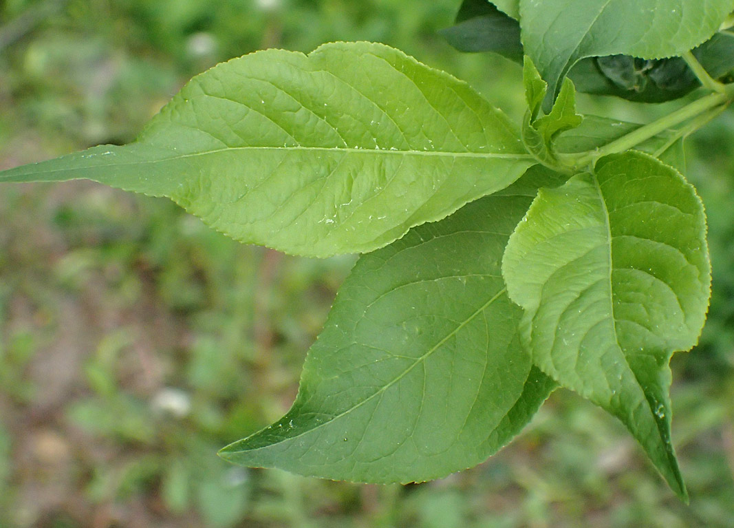
{"label": "large bright green horizontal leaf with long tip reaching left edge", "polygon": [[534,163],[467,84],[388,46],[259,51],[202,73],[124,147],[0,173],[168,196],[241,242],[368,252]]}

